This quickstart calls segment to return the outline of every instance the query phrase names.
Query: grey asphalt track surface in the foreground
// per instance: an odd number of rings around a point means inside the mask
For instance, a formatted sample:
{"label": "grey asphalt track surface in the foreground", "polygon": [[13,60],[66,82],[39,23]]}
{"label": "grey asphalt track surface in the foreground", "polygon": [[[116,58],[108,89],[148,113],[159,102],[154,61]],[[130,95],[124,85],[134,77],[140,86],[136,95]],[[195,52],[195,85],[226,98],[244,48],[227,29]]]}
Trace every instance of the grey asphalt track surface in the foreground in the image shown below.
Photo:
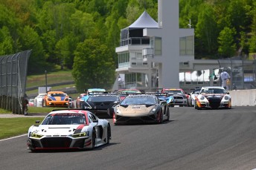
{"label": "grey asphalt track surface in the foreground", "polygon": [[112,124],[109,145],[92,151],[34,153],[26,136],[1,140],[0,169],[256,169],[256,107],[170,115],[163,124]]}

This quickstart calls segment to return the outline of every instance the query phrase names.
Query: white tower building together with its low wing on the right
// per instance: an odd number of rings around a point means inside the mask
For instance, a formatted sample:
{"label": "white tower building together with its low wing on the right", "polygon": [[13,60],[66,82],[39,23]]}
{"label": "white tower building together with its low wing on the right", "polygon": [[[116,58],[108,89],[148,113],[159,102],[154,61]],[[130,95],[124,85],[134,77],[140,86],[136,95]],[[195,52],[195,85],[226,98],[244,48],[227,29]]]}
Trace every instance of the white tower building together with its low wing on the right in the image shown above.
{"label": "white tower building together with its low wing on the right", "polygon": [[[218,76],[220,68],[231,68],[232,76],[233,68],[241,68],[243,64],[241,60],[237,65],[229,60],[195,60],[194,29],[179,28],[179,0],[158,1],[158,22],[145,10],[135,22],[121,30],[120,46],[115,52],[118,53],[118,79],[113,90],[183,88],[190,92],[199,86],[221,85],[219,79],[209,76],[213,73]],[[243,88],[243,76],[234,78]]]}

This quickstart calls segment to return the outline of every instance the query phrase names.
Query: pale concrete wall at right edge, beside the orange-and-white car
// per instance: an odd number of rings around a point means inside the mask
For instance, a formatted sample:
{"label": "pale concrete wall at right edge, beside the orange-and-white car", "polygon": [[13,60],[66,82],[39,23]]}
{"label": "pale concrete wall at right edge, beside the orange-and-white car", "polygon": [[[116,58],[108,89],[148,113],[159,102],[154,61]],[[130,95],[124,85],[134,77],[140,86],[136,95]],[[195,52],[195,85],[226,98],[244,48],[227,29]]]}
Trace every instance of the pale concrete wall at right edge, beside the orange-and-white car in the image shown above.
{"label": "pale concrete wall at right edge, beside the orange-and-white car", "polygon": [[228,92],[232,106],[256,106],[256,89]]}

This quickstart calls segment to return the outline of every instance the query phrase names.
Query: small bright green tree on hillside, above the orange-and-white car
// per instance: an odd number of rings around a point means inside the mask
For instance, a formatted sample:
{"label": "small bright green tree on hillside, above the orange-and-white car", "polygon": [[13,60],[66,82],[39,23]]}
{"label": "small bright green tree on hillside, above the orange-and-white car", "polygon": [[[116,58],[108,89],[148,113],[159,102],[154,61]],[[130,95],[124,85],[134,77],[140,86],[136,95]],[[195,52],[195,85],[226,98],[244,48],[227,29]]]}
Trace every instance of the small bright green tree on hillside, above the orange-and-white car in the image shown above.
{"label": "small bright green tree on hillside, above the orange-and-white car", "polygon": [[220,31],[220,36],[218,37],[218,42],[220,44],[218,52],[224,58],[228,58],[234,56],[236,45],[234,43],[234,28],[231,29],[229,27],[224,27],[222,31]]}

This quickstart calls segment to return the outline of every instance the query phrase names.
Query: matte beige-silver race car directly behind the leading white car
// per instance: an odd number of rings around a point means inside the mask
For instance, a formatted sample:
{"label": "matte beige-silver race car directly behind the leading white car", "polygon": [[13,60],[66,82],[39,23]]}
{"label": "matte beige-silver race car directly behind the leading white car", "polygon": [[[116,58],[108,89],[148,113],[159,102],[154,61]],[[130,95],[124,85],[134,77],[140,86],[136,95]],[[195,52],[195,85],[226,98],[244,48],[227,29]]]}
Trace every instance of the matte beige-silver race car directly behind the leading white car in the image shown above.
{"label": "matte beige-silver race car directly behind the leading white car", "polygon": [[169,120],[170,113],[166,100],[155,95],[132,94],[114,106],[113,122],[158,122]]}

